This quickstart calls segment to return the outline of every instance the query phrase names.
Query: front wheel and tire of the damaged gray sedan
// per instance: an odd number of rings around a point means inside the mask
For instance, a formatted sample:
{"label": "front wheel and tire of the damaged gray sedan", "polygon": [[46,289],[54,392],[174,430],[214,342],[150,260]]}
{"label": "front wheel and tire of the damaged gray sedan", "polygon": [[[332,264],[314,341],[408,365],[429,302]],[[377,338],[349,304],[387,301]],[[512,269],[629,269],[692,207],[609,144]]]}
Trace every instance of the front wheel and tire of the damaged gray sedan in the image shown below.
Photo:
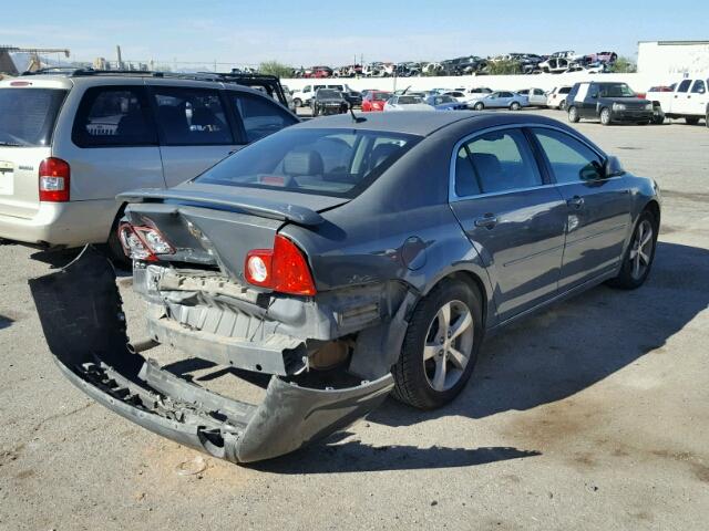
{"label": "front wheel and tire of the damaged gray sedan", "polygon": [[645,210],[638,218],[633,239],[623,259],[618,277],[608,283],[621,290],[635,290],[643,285],[650,274],[657,244],[657,220],[653,212]]}

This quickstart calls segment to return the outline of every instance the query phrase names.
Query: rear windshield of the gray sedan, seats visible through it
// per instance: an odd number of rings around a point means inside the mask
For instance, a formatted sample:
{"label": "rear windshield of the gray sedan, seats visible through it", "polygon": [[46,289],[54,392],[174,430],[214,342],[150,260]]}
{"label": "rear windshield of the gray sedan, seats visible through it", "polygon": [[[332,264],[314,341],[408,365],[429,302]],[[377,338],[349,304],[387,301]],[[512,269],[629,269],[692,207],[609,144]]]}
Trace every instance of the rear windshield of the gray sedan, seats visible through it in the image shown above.
{"label": "rear windshield of the gray sedan, seats visible through it", "polygon": [[285,129],[235,153],[195,180],[349,198],[419,139],[388,132]]}

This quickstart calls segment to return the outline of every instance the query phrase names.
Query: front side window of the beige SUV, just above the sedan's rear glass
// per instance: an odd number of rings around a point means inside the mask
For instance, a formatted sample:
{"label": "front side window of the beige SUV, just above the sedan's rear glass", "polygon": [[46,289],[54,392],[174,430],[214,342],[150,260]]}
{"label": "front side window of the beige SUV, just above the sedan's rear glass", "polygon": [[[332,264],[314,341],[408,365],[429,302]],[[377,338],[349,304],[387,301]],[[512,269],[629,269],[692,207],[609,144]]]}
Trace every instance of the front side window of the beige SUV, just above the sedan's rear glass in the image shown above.
{"label": "front side window of the beige SUV, just above the sedan's rear glass", "polygon": [[246,140],[249,144],[298,122],[284,107],[265,97],[245,92],[227,94],[244,124]]}

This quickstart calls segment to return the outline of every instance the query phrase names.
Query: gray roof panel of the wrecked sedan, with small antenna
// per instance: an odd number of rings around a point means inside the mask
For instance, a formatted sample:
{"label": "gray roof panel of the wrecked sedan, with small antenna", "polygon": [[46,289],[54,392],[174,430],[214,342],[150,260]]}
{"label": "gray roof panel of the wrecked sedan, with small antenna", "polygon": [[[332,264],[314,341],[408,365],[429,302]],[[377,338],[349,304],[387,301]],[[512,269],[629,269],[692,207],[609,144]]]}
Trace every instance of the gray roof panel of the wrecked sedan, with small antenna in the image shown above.
{"label": "gray roof panel of the wrecked sedan, with small antenna", "polygon": [[[520,113],[495,113],[481,111],[455,111],[452,113],[431,113],[425,111],[401,111],[397,113],[366,113],[356,114],[362,122],[354,122],[350,113],[335,116],[323,116],[296,124],[294,128],[310,129],[362,129],[387,133],[400,133],[415,136],[429,136],[439,129],[454,124],[465,125],[471,131],[476,126],[490,127],[494,125],[546,124],[558,126],[559,122],[546,116]],[[465,122],[463,124],[463,122]]]}

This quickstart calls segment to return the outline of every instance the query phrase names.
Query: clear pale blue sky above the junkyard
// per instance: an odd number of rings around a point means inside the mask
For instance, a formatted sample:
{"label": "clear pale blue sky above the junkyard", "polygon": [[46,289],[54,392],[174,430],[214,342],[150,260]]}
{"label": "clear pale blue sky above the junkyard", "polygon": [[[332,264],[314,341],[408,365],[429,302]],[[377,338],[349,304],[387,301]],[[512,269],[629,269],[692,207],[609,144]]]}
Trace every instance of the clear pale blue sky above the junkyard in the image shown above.
{"label": "clear pale blue sky above the junkyard", "polygon": [[294,66],[507,52],[617,51],[709,40],[709,1],[45,0],[3,1],[0,44],[69,48],[78,61]]}

